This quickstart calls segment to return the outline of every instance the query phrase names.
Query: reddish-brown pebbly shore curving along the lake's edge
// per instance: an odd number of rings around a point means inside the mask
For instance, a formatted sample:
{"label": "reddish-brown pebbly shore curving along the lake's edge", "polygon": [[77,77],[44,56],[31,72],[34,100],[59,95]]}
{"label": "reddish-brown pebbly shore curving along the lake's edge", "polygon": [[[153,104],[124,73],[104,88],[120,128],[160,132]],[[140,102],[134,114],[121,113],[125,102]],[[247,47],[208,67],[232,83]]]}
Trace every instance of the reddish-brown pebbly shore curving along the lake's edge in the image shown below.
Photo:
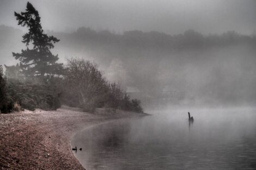
{"label": "reddish-brown pebbly shore curving along the lake's edge", "polygon": [[0,169],[84,169],[72,153],[72,135],[97,123],[138,116],[110,112],[90,114],[63,107],[0,114]]}

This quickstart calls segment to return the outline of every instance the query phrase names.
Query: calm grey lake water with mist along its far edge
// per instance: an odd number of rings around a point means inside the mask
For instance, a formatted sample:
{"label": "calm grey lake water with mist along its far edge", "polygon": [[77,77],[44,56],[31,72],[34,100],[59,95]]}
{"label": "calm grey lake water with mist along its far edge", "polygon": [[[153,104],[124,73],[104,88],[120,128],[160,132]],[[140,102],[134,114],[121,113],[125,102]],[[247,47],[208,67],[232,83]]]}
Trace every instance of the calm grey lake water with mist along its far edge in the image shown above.
{"label": "calm grey lake water with mist along its far edge", "polygon": [[71,140],[90,169],[255,169],[256,110],[154,112],[84,129]]}

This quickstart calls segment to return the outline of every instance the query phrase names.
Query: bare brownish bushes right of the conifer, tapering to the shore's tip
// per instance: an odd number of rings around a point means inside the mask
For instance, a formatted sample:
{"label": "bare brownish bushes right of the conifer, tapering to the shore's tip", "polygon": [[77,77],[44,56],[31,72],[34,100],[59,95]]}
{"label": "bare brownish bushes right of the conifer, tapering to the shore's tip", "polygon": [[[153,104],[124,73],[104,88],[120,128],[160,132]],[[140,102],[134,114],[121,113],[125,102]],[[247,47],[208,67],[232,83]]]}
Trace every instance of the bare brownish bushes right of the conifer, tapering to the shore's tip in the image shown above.
{"label": "bare brownish bushes right of the conifer, tapering to the shore's tip", "polygon": [[96,108],[113,108],[143,112],[137,99],[121,89],[120,84],[108,83],[94,62],[83,59],[68,60],[62,83],[62,102],[69,106],[94,112]]}

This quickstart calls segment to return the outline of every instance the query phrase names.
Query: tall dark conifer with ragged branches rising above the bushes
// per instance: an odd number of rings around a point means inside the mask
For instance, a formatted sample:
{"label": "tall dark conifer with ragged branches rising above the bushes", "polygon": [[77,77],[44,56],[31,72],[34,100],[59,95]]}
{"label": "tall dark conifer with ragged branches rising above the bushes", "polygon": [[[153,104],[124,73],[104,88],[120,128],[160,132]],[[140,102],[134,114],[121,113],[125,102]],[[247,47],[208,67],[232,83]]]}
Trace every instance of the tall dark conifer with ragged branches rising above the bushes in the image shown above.
{"label": "tall dark conifer with ragged branches rising above the bushes", "polygon": [[15,59],[20,60],[21,73],[27,78],[40,79],[60,74],[63,64],[57,63],[58,54],[53,55],[50,51],[54,47],[53,43],[59,40],[43,33],[38,11],[28,2],[25,12],[14,12],[14,15],[18,25],[28,28],[28,33],[22,36],[27,49],[22,49],[21,53],[13,53]]}

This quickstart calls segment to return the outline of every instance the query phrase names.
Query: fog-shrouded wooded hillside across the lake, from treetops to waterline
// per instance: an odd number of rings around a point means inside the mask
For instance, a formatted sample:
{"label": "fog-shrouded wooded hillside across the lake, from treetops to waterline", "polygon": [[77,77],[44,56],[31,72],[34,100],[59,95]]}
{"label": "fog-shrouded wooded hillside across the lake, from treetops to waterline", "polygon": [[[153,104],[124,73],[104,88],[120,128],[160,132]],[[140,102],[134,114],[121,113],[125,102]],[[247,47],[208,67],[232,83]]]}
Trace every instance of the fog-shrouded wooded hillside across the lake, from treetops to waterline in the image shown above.
{"label": "fog-shrouded wooded hillside across the lake, from treetops to waterline", "polygon": [[66,56],[96,61],[108,80],[121,81],[144,104],[256,100],[255,35],[202,35],[194,30],[179,35],[137,30],[116,34],[84,27],[74,33],[48,33],[61,40],[54,49],[60,61]]}

